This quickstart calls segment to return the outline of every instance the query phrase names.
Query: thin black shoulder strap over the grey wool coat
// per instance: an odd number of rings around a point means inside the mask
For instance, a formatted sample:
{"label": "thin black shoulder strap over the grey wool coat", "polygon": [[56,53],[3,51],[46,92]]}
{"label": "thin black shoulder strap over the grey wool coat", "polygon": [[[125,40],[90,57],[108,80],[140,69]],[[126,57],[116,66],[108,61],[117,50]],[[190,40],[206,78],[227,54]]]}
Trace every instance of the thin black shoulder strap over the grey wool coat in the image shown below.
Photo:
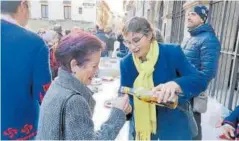
{"label": "thin black shoulder strap over the grey wool coat", "polygon": [[71,97],[73,97],[74,95],[79,95],[79,94],[71,94],[70,96],[67,97],[67,99],[64,99],[62,105],[61,105],[61,111],[60,111],[60,121],[59,121],[59,140],[64,140],[64,122],[65,122],[65,107],[67,102],[69,101],[69,99]]}

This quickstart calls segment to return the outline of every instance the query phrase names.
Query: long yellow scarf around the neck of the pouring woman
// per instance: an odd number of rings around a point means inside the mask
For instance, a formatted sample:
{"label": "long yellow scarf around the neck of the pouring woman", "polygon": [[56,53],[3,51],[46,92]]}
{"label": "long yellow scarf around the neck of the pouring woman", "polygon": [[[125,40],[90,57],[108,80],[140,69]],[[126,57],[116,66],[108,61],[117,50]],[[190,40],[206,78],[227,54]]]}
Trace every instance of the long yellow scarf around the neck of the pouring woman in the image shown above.
{"label": "long yellow scarf around the neck of the pouring woman", "polygon": [[[134,88],[152,89],[154,87],[153,72],[158,60],[159,47],[156,41],[150,45],[146,56],[147,61],[141,63],[140,59],[133,55],[134,64],[139,72],[134,81]],[[157,129],[156,107],[134,97],[134,119],[136,140],[150,140],[151,133],[155,134]]]}

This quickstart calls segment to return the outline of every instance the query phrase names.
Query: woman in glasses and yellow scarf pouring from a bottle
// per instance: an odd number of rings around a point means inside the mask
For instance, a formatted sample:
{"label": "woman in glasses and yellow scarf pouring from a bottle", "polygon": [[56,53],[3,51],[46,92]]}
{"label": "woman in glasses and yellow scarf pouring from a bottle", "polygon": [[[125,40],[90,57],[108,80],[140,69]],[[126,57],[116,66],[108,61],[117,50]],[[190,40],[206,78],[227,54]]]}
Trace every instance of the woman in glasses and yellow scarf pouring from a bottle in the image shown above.
{"label": "woman in glasses and yellow scarf pouring from a bottle", "polygon": [[152,90],[158,103],[178,98],[179,104],[170,109],[130,96],[129,139],[191,140],[197,127],[188,103],[207,88],[206,78],[187,61],[180,46],[158,43],[154,33],[145,18],[125,23],[124,44],[132,53],[120,61],[121,86]]}

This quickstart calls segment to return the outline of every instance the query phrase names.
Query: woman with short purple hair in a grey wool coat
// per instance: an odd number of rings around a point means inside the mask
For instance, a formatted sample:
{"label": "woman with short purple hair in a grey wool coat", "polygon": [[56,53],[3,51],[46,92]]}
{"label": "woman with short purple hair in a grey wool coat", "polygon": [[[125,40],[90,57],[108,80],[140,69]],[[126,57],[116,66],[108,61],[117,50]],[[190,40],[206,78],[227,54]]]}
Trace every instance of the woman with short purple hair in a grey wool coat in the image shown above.
{"label": "woman with short purple hair in a grey wool coat", "polygon": [[96,103],[87,85],[98,70],[101,50],[102,42],[82,31],[70,33],[60,41],[55,52],[60,68],[41,105],[38,140],[116,138],[132,108],[127,95],[112,100],[108,120],[95,131],[92,117]]}

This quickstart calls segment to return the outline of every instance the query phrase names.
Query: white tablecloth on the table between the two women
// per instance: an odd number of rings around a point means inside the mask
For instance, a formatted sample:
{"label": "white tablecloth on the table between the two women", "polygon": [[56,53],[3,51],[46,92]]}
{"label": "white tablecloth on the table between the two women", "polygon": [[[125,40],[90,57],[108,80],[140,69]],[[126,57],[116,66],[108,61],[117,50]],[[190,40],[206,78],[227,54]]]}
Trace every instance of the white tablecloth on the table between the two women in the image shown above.
{"label": "white tablecloth on the table between the two women", "polygon": [[[105,64],[109,64],[109,60],[106,61]],[[101,62],[102,63],[102,62]],[[100,129],[100,126],[108,119],[110,114],[110,109],[104,106],[104,102],[109,99],[113,99],[117,97],[117,91],[120,86],[120,80],[117,76],[119,76],[119,67],[117,63],[110,63],[113,64],[111,67],[104,67],[101,65],[100,67],[100,75],[99,77],[103,76],[112,76],[114,77],[114,81],[104,82],[102,81],[102,85],[97,86],[100,91],[93,95],[94,99],[96,100],[95,111],[93,115],[93,121],[95,124],[95,130]],[[128,122],[124,125],[121,129],[118,137],[116,140],[128,140]]]}

